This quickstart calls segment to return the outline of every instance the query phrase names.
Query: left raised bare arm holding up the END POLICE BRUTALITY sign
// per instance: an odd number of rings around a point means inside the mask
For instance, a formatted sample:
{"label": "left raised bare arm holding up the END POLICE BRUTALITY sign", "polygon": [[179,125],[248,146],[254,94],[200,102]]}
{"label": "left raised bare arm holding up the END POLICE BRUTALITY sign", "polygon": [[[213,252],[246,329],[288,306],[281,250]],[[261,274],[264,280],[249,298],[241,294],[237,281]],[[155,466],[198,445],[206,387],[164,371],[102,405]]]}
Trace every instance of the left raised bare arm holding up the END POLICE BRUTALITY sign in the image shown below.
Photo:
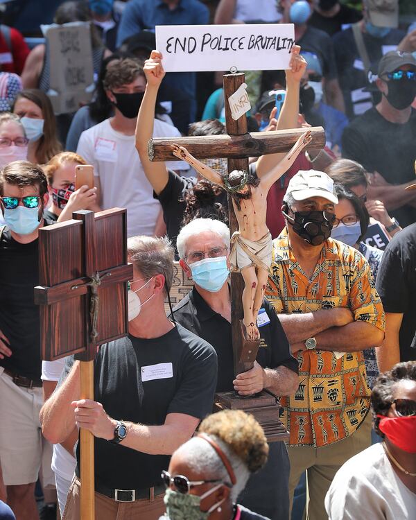
{"label": "left raised bare arm holding up the END POLICE BRUTALITY sign", "polygon": [[159,195],[168,184],[169,175],[164,162],[150,161],[148,141],[153,137],[157,92],[165,74],[162,67],[162,55],[157,51],[152,51],[150,59],[146,60],[144,64],[143,70],[148,83],[137,117],[136,148],[147,180],[152,185],[156,195]]}

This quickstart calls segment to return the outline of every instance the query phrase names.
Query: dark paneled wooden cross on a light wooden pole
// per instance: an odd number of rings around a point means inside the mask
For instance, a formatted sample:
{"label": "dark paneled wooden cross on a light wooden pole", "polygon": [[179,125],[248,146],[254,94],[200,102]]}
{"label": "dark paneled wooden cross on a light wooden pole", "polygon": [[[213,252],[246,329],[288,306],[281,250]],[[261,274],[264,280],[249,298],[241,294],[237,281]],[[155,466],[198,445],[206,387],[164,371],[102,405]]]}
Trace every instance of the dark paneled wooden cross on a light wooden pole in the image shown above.
{"label": "dark paneled wooden cross on a light wooden pole", "polygon": [[[39,232],[42,359],[75,354],[80,360],[81,399],[94,399],[98,345],[128,333],[125,209],[76,211],[74,220]],[[94,520],[94,435],[80,430],[82,520]]]}

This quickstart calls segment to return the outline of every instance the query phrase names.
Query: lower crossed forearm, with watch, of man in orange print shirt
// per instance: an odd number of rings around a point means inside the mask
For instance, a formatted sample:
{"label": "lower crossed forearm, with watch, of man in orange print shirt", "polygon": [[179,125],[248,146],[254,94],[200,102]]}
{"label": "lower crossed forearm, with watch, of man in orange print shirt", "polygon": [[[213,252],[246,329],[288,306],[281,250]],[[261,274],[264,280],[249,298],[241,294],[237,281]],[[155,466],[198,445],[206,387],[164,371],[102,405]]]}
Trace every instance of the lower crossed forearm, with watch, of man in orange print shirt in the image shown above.
{"label": "lower crossed forearm, with watch, of man in orange print shirt", "polygon": [[332,327],[315,336],[316,348],[333,352],[357,352],[378,347],[384,333],[371,323],[356,321],[344,327]]}

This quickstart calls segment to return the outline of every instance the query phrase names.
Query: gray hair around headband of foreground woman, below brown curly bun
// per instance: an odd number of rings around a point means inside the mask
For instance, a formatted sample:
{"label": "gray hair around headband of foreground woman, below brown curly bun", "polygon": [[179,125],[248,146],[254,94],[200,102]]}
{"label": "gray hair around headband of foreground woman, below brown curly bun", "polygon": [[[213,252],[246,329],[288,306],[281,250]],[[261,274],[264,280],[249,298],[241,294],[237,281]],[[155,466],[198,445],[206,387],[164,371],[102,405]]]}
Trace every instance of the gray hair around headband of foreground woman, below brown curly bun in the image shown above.
{"label": "gray hair around headband of foreground woman, below brown curly bun", "polygon": [[192,437],[189,441],[180,446],[175,453],[179,453],[187,460],[187,465],[192,471],[202,473],[205,480],[221,480],[231,488],[230,498],[236,502],[237,497],[243,491],[250,476],[247,465],[236,456],[228,444],[220,440],[216,435],[209,435],[215,440],[216,444],[225,453],[229,463],[234,470],[236,483],[231,483],[224,462],[218,456],[216,450],[202,437]]}

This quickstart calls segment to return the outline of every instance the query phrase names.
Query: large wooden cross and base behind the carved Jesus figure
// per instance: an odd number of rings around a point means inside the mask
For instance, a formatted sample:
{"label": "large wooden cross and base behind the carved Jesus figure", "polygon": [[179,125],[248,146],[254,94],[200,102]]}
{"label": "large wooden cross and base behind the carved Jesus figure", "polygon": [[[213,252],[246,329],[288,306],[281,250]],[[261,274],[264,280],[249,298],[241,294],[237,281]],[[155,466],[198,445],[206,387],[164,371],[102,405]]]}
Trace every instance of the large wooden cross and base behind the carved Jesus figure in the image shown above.
{"label": "large wooden cross and base behind the carved Jesus figure", "polygon": [[[166,161],[175,159],[188,160],[187,155],[198,159],[226,157],[228,159],[228,180],[231,173],[248,172],[248,157],[259,157],[270,153],[288,152],[304,135],[304,129],[280,130],[277,132],[248,133],[245,114],[234,120],[227,100],[244,83],[243,73],[232,73],[224,76],[225,96],[225,125],[226,135],[205,137],[180,137],[172,139],[150,139],[148,155],[152,161]],[[302,137],[303,139],[303,137]],[[302,141],[301,139],[301,141]],[[174,147],[173,142],[177,144]],[[325,144],[325,134],[321,127],[309,128],[307,142],[302,143],[304,150],[320,150]],[[183,147],[183,148],[181,148]],[[184,149],[187,153],[184,153]],[[172,154],[175,154],[173,157]],[[202,172],[201,172],[202,173]],[[204,175],[204,173],[202,173]],[[233,207],[232,197],[228,198],[229,229],[232,234],[239,229],[239,221]],[[263,209],[266,208],[264,200]],[[240,219],[241,220],[241,219]],[[264,211],[264,225],[266,226],[266,211]],[[269,266],[270,267],[270,263]],[[252,333],[242,325],[244,317],[243,291],[245,283],[239,272],[231,275],[231,304],[232,304],[232,348],[234,354],[234,375],[250,370],[257,357],[259,340],[257,334]],[[253,299],[254,300],[254,299]],[[256,327],[257,328],[257,327]],[[255,332],[255,331],[254,331]],[[253,340],[254,337],[254,340]],[[223,392],[216,395],[216,408],[239,408],[252,413],[259,421],[268,437],[268,441],[283,440],[288,436],[283,424],[279,420],[279,408],[275,396],[268,392],[261,392],[254,397],[241,398],[234,392]]]}

